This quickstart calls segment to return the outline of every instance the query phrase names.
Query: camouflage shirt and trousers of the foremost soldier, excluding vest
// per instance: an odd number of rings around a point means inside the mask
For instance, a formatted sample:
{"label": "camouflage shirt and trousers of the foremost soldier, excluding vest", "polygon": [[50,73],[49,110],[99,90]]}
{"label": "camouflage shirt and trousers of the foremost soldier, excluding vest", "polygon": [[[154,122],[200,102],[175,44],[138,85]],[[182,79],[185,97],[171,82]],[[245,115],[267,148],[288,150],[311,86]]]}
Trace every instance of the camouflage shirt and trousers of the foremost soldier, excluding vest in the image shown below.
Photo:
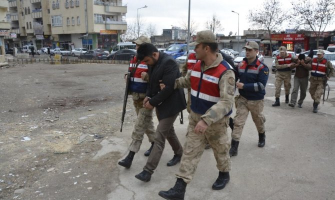
{"label": "camouflage shirt and trousers of the foremost soldier, excluding vest", "polygon": [[[203,71],[218,66],[223,60],[222,55],[216,53],[217,58],[210,66],[204,66],[201,61]],[[219,80],[219,101],[212,105],[205,114],[195,113],[192,110],[188,115],[189,124],[187,127],[186,141],[183,147],[179,172],[176,176],[189,183],[200,160],[204,146],[209,143],[213,149],[216,159],[216,167],[219,171],[226,172],[230,170],[230,135],[227,134],[229,116],[234,100],[235,75],[232,70],[227,70]],[[177,88],[190,87],[190,73],[185,77],[178,78],[175,82]],[[194,127],[199,120],[204,120],[208,125],[203,134],[194,132]]]}

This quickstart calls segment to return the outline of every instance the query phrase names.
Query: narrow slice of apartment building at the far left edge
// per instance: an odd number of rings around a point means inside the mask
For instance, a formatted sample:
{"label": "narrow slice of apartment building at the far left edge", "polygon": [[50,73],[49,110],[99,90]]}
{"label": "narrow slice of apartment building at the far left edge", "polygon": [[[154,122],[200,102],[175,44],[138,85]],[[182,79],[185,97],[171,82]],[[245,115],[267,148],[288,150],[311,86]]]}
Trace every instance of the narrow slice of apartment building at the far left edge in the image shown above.
{"label": "narrow slice of apartment building at the far left edge", "polygon": [[9,36],[10,22],[7,18],[8,2],[0,0],[0,62],[5,61],[4,37]]}

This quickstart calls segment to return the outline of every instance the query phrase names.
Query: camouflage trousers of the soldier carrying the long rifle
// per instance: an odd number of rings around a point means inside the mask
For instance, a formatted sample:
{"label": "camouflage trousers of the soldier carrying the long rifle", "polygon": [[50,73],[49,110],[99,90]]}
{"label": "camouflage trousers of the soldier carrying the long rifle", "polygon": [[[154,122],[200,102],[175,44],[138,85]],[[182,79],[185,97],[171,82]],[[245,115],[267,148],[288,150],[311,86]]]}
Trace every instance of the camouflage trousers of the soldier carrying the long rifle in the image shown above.
{"label": "camouflage trousers of the soldier carrying the long rifle", "polygon": [[128,147],[130,151],[138,152],[143,140],[144,133],[149,138],[149,142],[153,142],[155,129],[152,122],[152,109],[143,107],[143,98],[133,99],[137,118],[131,133],[132,141]]}

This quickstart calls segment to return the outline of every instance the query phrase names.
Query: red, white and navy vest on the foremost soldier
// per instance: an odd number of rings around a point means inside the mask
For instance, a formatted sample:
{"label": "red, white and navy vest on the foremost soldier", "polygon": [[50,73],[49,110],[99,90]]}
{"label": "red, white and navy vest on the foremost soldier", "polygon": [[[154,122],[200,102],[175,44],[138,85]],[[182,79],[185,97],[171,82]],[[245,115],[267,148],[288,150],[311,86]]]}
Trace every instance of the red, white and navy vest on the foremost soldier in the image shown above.
{"label": "red, white and navy vest on the foremost soldier", "polygon": [[[195,113],[204,114],[212,105],[220,99],[218,82],[226,70],[232,70],[225,61],[217,67],[201,71],[201,62],[196,62],[190,75],[191,83],[191,110]],[[226,115],[230,115],[230,110]]]}

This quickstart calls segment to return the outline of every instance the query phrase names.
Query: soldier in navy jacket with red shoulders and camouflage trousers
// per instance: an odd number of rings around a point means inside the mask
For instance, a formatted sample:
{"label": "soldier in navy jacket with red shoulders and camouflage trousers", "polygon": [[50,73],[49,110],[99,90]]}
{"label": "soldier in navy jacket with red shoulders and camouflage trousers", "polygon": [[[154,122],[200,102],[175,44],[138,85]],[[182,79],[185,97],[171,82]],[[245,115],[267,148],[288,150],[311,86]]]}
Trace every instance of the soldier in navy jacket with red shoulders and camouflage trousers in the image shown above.
{"label": "soldier in navy jacket with red shoulders and camouflage trousers", "polygon": [[233,119],[230,156],[237,155],[239,139],[249,111],[258,131],[258,147],[265,145],[263,107],[268,68],[257,59],[258,44],[255,41],[246,42],[243,48],[245,48],[245,57],[237,65],[239,82],[236,83],[236,87],[239,96],[235,103],[236,114]]}

